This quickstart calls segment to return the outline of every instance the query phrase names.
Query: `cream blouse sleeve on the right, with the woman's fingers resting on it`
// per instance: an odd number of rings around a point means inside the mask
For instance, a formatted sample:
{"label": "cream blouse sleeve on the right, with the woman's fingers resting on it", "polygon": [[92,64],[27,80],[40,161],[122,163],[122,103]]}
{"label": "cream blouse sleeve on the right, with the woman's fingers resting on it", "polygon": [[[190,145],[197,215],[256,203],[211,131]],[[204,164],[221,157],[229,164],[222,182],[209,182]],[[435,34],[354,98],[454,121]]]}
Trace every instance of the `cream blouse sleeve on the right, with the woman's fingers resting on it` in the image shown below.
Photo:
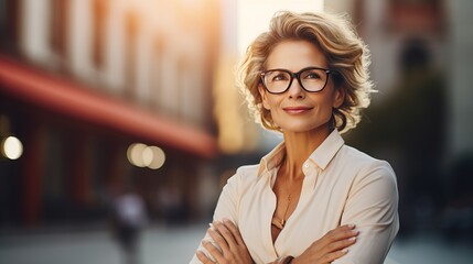
{"label": "cream blouse sleeve on the right, with the woman's fingers resting on it", "polygon": [[334,264],[381,264],[399,230],[396,175],[377,161],[355,177],[341,224],[356,224],[356,243]]}

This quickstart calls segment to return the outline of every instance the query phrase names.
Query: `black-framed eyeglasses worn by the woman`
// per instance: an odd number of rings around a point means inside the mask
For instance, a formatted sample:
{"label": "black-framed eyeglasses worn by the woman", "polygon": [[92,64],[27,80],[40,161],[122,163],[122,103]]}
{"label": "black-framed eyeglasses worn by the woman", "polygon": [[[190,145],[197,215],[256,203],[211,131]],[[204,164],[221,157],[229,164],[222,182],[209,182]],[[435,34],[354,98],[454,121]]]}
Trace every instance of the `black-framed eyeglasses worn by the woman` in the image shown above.
{"label": "black-framed eyeglasses worn by the woman", "polygon": [[261,73],[261,81],[269,94],[279,95],[286,92],[294,78],[305,91],[318,92],[325,88],[329,75],[332,72],[325,68],[307,67],[298,73],[288,69],[269,69]]}

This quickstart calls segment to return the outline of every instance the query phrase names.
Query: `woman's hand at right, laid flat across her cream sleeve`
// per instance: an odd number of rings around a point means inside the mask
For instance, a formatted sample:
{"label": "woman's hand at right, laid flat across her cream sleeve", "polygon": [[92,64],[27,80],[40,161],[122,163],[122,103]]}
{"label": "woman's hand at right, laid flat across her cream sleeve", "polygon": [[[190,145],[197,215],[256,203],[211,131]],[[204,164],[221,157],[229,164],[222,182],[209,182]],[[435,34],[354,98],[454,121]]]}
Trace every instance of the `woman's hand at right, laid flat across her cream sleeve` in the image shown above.
{"label": "woman's hand at right, laid flat across her cream sleeve", "polygon": [[354,224],[342,226],[329,231],[320,240],[313,242],[291,264],[299,263],[332,263],[348,252],[348,246],[356,242],[358,231]]}

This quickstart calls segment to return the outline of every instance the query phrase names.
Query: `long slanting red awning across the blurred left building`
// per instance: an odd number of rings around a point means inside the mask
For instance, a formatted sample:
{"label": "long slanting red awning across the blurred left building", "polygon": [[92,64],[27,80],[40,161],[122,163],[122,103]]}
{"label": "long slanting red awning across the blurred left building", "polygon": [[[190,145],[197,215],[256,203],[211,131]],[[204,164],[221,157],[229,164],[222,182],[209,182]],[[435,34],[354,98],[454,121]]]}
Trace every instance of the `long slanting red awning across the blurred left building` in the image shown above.
{"label": "long slanting red awning across the blurred left building", "polygon": [[29,103],[111,128],[143,141],[214,157],[216,140],[196,128],[146,112],[71,80],[40,73],[0,55],[0,91]]}

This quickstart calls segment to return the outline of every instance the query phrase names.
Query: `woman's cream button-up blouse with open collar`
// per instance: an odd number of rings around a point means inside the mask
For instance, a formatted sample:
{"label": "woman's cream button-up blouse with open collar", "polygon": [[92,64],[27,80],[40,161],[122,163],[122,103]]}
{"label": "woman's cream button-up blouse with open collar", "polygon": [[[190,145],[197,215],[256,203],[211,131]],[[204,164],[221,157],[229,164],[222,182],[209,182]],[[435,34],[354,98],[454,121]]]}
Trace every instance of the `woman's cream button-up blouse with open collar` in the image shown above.
{"label": "woman's cream button-up blouse with open collar", "polygon": [[[255,263],[298,256],[330,230],[348,223],[356,224],[358,238],[333,263],[383,263],[399,230],[398,191],[390,165],[345,145],[334,130],[303,164],[299,204],[273,244],[272,186],[284,153],[282,142],[259,165],[238,168],[221,194],[214,220],[227,218],[238,227]],[[213,242],[208,234],[204,240]],[[208,255],[202,244],[198,250]],[[191,263],[201,262],[194,255]]]}

